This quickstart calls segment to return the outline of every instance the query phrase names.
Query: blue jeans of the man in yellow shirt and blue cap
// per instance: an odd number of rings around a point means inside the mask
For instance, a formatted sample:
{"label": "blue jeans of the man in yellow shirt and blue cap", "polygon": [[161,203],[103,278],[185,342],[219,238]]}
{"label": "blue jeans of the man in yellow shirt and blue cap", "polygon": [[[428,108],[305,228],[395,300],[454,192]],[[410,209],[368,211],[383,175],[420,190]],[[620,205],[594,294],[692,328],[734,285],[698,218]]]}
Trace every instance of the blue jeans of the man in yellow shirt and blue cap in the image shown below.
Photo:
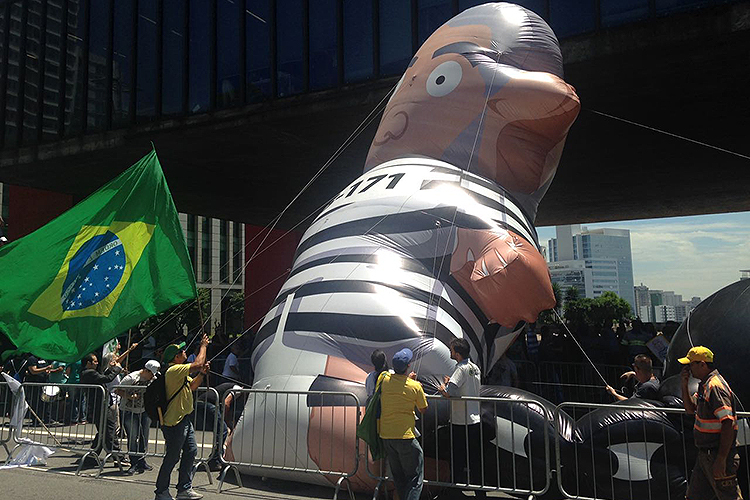
{"label": "blue jeans of the man in yellow shirt and blue cap", "polygon": [[386,458],[401,500],[419,500],[424,480],[424,455],[416,439],[384,439]]}

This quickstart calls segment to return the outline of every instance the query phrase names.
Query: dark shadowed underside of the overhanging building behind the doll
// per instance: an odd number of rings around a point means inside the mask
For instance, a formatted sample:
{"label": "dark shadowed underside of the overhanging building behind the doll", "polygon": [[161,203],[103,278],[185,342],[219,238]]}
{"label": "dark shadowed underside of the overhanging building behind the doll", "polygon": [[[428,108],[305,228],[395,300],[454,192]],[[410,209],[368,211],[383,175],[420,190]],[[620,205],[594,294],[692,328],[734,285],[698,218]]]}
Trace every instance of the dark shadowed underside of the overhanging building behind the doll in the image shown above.
{"label": "dark shadowed underside of the overhanging building behind the doll", "polygon": [[[569,39],[563,50],[582,111],[537,225],[750,210],[750,2]],[[262,225],[395,80],[4,151],[0,181],[83,197],[153,141],[180,211]],[[378,120],[281,227],[359,175]]]}

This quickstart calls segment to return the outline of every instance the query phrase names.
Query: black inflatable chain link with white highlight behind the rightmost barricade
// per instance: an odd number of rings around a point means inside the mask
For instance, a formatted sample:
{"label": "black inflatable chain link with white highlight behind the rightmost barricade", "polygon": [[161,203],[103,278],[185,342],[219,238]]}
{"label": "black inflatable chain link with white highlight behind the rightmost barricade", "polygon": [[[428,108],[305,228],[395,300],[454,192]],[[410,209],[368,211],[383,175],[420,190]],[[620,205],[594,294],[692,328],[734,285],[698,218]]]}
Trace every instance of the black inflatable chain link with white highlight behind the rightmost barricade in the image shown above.
{"label": "black inflatable chain link with white highlight behind the rightmost barricade", "polygon": [[684,499],[686,457],[683,439],[661,403],[631,398],[617,403],[643,410],[602,408],[576,423],[573,463],[577,475],[563,476],[574,496],[619,499]]}

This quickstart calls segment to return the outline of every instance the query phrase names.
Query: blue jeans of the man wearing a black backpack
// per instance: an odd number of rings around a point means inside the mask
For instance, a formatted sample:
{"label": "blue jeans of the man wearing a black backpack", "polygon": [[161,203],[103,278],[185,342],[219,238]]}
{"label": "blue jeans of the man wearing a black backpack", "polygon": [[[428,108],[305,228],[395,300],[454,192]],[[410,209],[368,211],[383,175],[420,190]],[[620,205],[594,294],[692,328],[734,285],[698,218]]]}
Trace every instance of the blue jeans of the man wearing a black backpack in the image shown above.
{"label": "blue jeans of the man wearing a black backpack", "polygon": [[[180,475],[177,479],[177,492],[189,490],[193,486],[193,462],[198,454],[195,443],[195,431],[190,417],[185,417],[179,424],[172,427],[163,426],[161,432],[166,443],[166,454],[156,479],[155,493],[158,495],[169,489],[169,477],[177,462],[180,462]],[[180,460],[182,452],[182,460]]]}

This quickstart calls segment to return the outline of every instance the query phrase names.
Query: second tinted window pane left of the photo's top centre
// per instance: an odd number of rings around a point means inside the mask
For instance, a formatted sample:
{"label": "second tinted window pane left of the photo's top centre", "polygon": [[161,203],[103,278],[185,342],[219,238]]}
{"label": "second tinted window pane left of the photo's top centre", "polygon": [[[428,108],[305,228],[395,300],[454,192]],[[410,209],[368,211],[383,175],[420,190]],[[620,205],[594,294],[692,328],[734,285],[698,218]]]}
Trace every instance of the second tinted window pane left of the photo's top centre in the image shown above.
{"label": "second tinted window pane left of the photo's top centre", "polygon": [[310,88],[338,83],[336,0],[310,2]]}

